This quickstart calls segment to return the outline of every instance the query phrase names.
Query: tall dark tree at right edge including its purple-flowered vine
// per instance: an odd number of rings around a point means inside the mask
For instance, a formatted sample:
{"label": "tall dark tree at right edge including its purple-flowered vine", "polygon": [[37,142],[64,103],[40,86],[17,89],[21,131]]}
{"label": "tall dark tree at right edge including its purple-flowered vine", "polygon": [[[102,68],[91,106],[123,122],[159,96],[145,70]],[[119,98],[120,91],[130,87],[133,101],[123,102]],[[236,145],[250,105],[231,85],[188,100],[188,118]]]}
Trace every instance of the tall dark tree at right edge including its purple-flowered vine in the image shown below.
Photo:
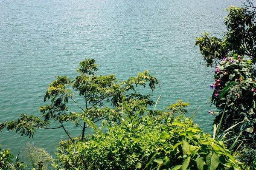
{"label": "tall dark tree at right edge including its purple-flowered vine", "polygon": [[230,148],[256,138],[256,8],[252,0],[244,5],[227,9],[223,38],[204,32],[195,42],[207,67],[215,66],[211,99],[220,112],[214,124],[218,125],[217,133],[230,131],[226,135],[233,139],[226,143]]}

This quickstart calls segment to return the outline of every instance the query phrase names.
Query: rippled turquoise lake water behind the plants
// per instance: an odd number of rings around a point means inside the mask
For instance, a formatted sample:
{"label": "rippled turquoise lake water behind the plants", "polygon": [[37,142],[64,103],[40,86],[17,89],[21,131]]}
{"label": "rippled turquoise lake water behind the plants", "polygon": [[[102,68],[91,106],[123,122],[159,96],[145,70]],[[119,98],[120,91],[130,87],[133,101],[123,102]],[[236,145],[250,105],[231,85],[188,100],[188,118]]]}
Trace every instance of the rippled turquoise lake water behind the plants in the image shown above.
{"label": "rippled turquoise lake water behind the plants", "polygon": [[[21,113],[39,116],[47,85],[56,75],[76,76],[84,57],[95,58],[99,74],[120,80],[148,70],[160,88],[158,109],[178,99],[190,103],[195,122],[211,132],[208,114],[213,82],[195,37],[221,37],[225,8],[240,0],[0,0],[0,122]],[[146,93],[146,91],[142,91]],[[53,127],[57,125],[52,125]],[[68,125],[71,136],[79,129]],[[89,132],[88,132],[89,133]],[[2,148],[17,154],[26,142],[54,153],[66,135],[38,130],[34,139],[4,130]]]}

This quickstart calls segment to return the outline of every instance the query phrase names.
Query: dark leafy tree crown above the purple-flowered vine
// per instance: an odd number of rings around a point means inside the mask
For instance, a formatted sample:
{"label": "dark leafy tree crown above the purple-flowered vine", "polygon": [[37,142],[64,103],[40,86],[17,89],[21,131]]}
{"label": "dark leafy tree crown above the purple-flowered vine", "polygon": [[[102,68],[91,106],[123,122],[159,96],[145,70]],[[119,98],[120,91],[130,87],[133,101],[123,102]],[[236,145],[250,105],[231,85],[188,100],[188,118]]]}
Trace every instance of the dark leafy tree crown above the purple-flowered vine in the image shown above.
{"label": "dark leafy tree crown above the purple-flowered vine", "polygon": [[[248,1],[251,3],[252,1]],[[204,32],[202,37],[196,39],[207,66],[216,64],[224,57],[233,54],[250,57],[252,64],[256,63],[256,12],[249,6],[227,9],[228,16],[224,18],[227,32],[223,38],[210,36]]]}

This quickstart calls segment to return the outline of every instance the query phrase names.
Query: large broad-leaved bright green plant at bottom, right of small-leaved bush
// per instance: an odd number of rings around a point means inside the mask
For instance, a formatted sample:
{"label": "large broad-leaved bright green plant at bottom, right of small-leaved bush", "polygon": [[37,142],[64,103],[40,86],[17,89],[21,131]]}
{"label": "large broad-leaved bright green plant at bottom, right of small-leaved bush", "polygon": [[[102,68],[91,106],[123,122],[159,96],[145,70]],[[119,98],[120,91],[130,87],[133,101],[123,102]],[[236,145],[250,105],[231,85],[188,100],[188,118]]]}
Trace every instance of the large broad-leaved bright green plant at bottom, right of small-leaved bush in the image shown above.
{"label": "large broad-leaved bright green plant at bottom, right of small-leaved bush", "polygon": [[[172,130],[160,136],[163,142],[148,158],[150,169],[170,170],[236,170],[237,164],[223,142],[212,139],[208,133],[193,125],[191,119],[173,122]],[[152,159],[154,157],[154,160]]]}

